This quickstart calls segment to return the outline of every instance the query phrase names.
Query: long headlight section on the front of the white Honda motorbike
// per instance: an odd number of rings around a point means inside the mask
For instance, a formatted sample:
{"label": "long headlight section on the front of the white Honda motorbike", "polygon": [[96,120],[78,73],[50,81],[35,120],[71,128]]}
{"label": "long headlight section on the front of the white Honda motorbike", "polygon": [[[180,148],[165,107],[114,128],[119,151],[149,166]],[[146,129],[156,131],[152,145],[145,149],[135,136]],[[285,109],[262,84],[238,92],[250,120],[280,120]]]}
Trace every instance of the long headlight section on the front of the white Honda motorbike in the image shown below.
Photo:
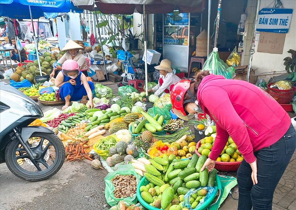
{"label": "long headlight section on the front of the white Honda motorbike", "polygon": [[14,101],[15,103],[22,106],[24,109],[28,110],[32,116],[40,115],[43,117],[42,109],[39,107],[38,104],[36,104],[34,101],[32,102],[29,98],[20,97],[14,93],[8,93],[5,91],[1,93],[3,94],[3,97],[9,98],[11,101]]}

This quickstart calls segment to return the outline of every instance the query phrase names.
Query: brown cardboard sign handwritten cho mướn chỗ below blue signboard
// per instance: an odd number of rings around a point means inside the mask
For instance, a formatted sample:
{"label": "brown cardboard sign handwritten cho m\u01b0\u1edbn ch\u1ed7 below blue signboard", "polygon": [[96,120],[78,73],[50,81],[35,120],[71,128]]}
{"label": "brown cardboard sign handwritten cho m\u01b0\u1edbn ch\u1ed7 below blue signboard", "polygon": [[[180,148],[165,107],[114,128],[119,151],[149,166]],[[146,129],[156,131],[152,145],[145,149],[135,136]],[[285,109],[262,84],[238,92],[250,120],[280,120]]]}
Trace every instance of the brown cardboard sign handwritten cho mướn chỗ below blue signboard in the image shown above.
{"label": "brown cardboard sign handwritten cho m\u01b0\u1edbn ch\u1ed7 below blue signboard", "polygon": [[286,34],[261,32],[257,52],[283,54]]}

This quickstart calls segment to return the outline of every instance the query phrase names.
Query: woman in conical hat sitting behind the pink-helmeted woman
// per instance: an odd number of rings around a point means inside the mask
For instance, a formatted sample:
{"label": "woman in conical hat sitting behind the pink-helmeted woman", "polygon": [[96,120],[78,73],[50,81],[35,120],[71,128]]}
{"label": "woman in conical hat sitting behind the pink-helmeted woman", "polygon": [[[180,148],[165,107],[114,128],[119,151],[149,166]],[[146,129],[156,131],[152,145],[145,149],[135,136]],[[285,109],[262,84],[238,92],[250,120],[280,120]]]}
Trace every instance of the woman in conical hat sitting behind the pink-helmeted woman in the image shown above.
{"label": "woman in conical hat sitting behind the pink-helmeted woman", "polygon": [[66,51],[66,53],[55,63],[54,68],[50,73],[50,77],[56,78],[58,73],[62,70],[62,64],[66,60],[70,59],[75,60],[78,63],[80,69],[86,69],[87,65],[85,62],[85,57],[83,54],[79,53],[80,49],[83,49],[83,47],[81,47],[74,41],[69,40],[68,43],[62,49],[62,51]]}

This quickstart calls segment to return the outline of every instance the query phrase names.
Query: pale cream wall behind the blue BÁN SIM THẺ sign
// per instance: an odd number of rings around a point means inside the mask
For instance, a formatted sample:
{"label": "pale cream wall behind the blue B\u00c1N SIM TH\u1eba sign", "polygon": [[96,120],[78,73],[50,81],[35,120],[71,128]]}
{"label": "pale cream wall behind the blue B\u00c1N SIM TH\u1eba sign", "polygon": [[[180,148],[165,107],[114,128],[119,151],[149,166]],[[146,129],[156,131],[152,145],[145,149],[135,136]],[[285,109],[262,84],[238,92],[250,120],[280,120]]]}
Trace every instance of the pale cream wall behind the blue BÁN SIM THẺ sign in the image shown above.
{"label": "pale cream wall behind the blue B\u00c1N SIM TH\u1eba sign", "polygon": [[[261,1],[260,9],[268,7],[273,0]],[[291,54],[287,53],[289,49],[296,50],[296,1],[282,0],[285,9],[293,9],[292,20],[289,32],[286,34],[283,54],[271,54],[264,52],[257,52],[258,41],[255,41],[255,53],[253,54],[252,68],[258,68],[256,75],[267,72],[282,73],[285,71],[283,59]]]}

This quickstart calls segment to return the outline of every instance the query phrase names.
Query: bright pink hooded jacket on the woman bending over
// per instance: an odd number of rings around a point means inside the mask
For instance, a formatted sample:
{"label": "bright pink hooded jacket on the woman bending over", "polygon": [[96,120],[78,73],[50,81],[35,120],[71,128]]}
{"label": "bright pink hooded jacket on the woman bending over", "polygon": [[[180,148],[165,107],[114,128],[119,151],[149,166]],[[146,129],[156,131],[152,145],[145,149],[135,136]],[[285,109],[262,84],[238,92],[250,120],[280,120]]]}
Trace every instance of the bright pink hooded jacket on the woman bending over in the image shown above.
{"label": "bright pink hooded jacket on the woman bending over", "polygon": [[253,152],[277,142],[291,124],[277,101],[246,81],[205,76],[197,99],[204,113],[216,122],[217,136],[209,155],[212,160],[221,154],[230,135],[245,160],[253,163]]}

